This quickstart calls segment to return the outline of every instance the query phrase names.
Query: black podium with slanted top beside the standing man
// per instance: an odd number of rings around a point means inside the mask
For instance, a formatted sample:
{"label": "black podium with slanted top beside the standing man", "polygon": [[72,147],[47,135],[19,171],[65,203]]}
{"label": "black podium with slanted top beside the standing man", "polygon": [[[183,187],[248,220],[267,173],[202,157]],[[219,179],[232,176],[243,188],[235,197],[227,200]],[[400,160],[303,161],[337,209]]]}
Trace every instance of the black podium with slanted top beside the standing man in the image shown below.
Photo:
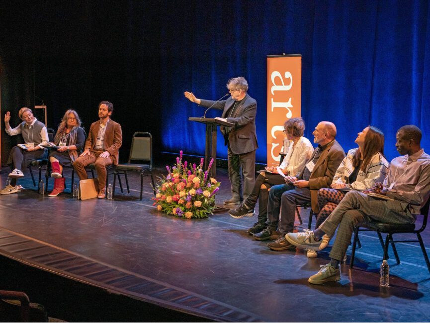
{"label": "black podium with slanted top beside the standing man", "polygon": [[206,144],[205,144],[205,159],[204,169],[209,166],[210,160],[213,158],[214,162],[209,171],[209,177],[214,177],[216,174],[216,137],[217,137],[217,126],[234,127],[235,125],[230,122],[204,117],[189,117],[189,121],[195,121],[206,124]]}

